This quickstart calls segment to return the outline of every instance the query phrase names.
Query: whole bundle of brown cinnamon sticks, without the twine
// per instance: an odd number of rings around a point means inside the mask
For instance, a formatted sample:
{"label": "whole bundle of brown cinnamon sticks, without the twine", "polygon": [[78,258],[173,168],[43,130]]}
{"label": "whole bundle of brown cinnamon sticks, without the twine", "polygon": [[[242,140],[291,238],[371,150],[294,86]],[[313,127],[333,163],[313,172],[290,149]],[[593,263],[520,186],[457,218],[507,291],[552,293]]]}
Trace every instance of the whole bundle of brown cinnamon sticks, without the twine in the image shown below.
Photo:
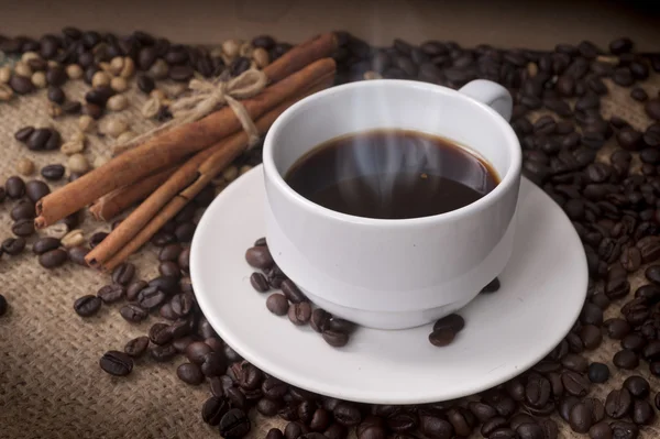
{"label": "whole bundle of brown cinnamon sticks, without the twine", "polygon": [[[302,43],[264,68],[268,85],[242,100],[261,135],[288,107],[332,85],[330,57],[334,34]],[[42,198],[36,228],[44,228],[90,207],[110,220],[143,200],[86,256],[88,265],[113,270],[146,243],[234,158],[246,151],[249,135],[229,107],[166,132],[116,156],[103,166]]]}

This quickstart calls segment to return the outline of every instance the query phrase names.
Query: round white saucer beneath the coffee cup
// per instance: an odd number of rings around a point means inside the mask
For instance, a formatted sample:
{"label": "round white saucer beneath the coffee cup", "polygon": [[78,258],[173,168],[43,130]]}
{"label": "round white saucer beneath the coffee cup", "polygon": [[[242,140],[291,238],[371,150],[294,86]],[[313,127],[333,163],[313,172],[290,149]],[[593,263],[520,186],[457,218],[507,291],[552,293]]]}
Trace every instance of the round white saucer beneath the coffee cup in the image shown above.
{"label": "round white saucer beneath the coffee cup", "polygon": [[563,211],[527,179],[520,185],[514,253],[502,288],[460,314],[465,329],[436,348],[431,326],[360,328],[342,349],[311,328],[272,315],[250,285],[245,250],[264,235],[258,166],[208,208],[193,240],[190,274],[209,322],[245,360],[292,385],[342,399],[422,404],[465,396],[514,377],[569,332],[586,295],[580,239]]}

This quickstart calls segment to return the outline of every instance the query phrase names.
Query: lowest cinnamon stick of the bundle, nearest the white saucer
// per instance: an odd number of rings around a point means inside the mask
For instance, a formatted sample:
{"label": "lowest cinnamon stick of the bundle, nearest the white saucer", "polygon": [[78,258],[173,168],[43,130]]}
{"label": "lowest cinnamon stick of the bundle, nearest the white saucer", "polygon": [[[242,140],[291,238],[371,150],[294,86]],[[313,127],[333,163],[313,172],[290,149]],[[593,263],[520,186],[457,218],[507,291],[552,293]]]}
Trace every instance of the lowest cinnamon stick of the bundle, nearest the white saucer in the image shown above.
{"label": "lowest cinnamon stick of the bundle, nearest the white saucer", "polygon": [[[284,110],[290,107],[295,101],[302,99],[305,96],[311,95],[312,92],[327,88],[329,85],[331,85],[332,79],[333,75],[326,75],[320,81],[317,81],[314,87],[306,90],[305,95],[298,96],[296,99],[278,106],[274,110],[260,118],[255,123],[260,133],[265,133],[273,124],[275,119],[277,119],[277,117],[279,117],[279,114],[282,114],[282,112],[284,112]],[[110,266],[114,267],[116,264],[124,261],[135,250],[142,246],[144,242],[146,242],[136,237],[145,237],[147,234],[147,232],[144,232],[143,230],[153,221],[155,217],[161,215],[158,211],[164,206],[172,201],[177,194],[180,195],[182,191],[183,194],[191,194],[186,193],[186,188],[189,188],[191,191],[196,190],[190,196],[190,198],[194,197],[199,190],[201,190],[201,188],[208,185],[219,172],[222,171],[222,168],[220,168],[210,175],[209,169],[216,169],[219,165],[211,167],[210,164],[207,164],[207,161],[211,161],[209,163],[221,163],[222,167],[224,167],[245,150],[246,143],[248,134],[241,131],[231,135],[229,139],[197,153],[193,158],[188,160],[167,179],[165,184],[158,187],[144,202],[142,202],[133,212],[131,212],[131,215],[124,219],[117,227],[117,229],[114,229],[100,244],[98,244],[87,254],[87,264],[94,267],[102,266],[106,270],[112,270]],[[155,231],[153,233],[155,233]],[[151,233],[146,240],[151,239],[153,233]]]}

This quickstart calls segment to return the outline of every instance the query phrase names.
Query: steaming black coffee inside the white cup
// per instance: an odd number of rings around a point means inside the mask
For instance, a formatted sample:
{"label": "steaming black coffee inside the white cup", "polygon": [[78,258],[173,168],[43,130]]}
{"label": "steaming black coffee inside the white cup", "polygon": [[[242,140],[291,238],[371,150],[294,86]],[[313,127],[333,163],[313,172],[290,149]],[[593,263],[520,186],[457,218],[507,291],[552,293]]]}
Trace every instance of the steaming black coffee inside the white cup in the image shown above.
{"label": "steaming black coffee inside the white cup", "polygon": [[470,205],[498,184],[491,165],[447,139],[375,130],[326,142],[285,177],[305,198],[366,218],[406,219]]}

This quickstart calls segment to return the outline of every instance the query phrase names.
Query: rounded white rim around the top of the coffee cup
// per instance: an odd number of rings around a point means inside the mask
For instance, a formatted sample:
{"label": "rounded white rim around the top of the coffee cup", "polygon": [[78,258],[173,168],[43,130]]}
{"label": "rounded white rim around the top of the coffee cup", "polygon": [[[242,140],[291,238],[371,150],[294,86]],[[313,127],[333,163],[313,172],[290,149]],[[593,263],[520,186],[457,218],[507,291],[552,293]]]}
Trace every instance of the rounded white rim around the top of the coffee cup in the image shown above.
{"label": "rounded white rim around the top of the coffee cup", "polygon": [[[353,88],[378,88],[378,87],[408,87],[408,88],[420,88],[426,91],[440,94],[443,96],[452,96],[458,97],[466,102],[473,105],[476,109],[481,111],[486,111],[492,119],[499,125],[503,131],[507,142],[507,149],[509,150],[509,168],[507,169],[504,178],[499,182],[499,184],[491,190],[488,194],[477,199],[474,202],[471,202],[466,206],[463,206],[459,209],[450,210],[448,212],[432,215],[428,217],[417,217],[417,218],[406,218],[406,219],[383,219],[383,218],[367,218],[367,217],[359,217],[354,215],[339,212],[337,210],[329,209],[321,205],[318,205],[309,199],[302,197],[298,194],[294,188],[292,188],[283,176],[277,171],[275,166],[275,160],[273,157],[274,153],[274,136],[275,133],[282,129],[283,125],[288,123],[288,120],[295,114],[305,111],[306,107],[311,102],[321,100],[327,98],[328,96],[342,92],[345,90],[350,90]],[[396,128],[396,127],[394,127]],[[485,157],[484,157],[485,158]],[[487,158],[486,158],[487,160]],[[264,149],[263,149],[263,166],[264,166],[264,177],[285,196],[292,198],[295,202],[297,202],[300,207],[307,210],[310,213],[322,215],[324,217],[329,217],[337,221],[349,222],[354,224],[364,224],[364,226],[374,226],[374,227],[408,227],[408,226],[424,226],[429,223],[435,223],[438,221],[447,221],[447,220],[458,220],[464,218],[470,215],[474,215],[479,211],[486,209],[487,207],[495,204],[504,194],[506,194],[512,186],[516,185],[519,182],[519,176],[522,166],[522,152],[520,150],[520,142],[518,141],[517,135],[514,130],[509,125],[508,121],[505,120],[497,111],[493,108],[488,107],[486,103],[480,102],[464,94],[461,94],[458,90],[453,90],[448,87],[439,86],[436,84],[429,83],[420,83],[416,80],[408,79],[372,79],[372,80],[363,80],[358,83],[343,84],[340,86],[333,86],[327,88],[324,90],[318,91],[314,95],[310,95],[304,99],[300,99],[298,102],[294,103],[289,108],[287,108],[273,123],[266,136],[264,139]]]}

